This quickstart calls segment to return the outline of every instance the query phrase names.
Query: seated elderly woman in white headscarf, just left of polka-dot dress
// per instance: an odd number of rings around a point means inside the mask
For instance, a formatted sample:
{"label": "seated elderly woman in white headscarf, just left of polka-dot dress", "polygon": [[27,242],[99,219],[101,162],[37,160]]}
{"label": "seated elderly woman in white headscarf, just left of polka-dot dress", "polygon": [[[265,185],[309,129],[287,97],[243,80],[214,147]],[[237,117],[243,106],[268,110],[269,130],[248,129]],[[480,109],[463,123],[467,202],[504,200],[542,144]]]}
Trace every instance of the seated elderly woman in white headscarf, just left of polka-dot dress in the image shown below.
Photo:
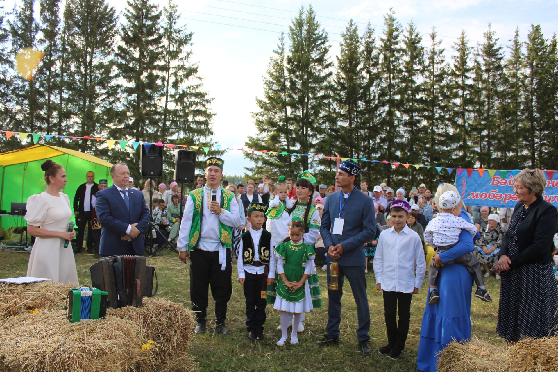
{"label": "seated elderly woman in white headscarf, just left of polka-dot dress", "polygon": [[[475,241],[475,254],[484,268],[484,277],[488,278],[491,273],[491,268],[498,262],[497,253],[500,252],[502,240],[504,239],[504,228],[500,225],[500,217],[496,214],[490,214],[487,217],[487,225],[483,230],[480,230],[480,238]],[[496,274],[496,279],[500,276]]]}

